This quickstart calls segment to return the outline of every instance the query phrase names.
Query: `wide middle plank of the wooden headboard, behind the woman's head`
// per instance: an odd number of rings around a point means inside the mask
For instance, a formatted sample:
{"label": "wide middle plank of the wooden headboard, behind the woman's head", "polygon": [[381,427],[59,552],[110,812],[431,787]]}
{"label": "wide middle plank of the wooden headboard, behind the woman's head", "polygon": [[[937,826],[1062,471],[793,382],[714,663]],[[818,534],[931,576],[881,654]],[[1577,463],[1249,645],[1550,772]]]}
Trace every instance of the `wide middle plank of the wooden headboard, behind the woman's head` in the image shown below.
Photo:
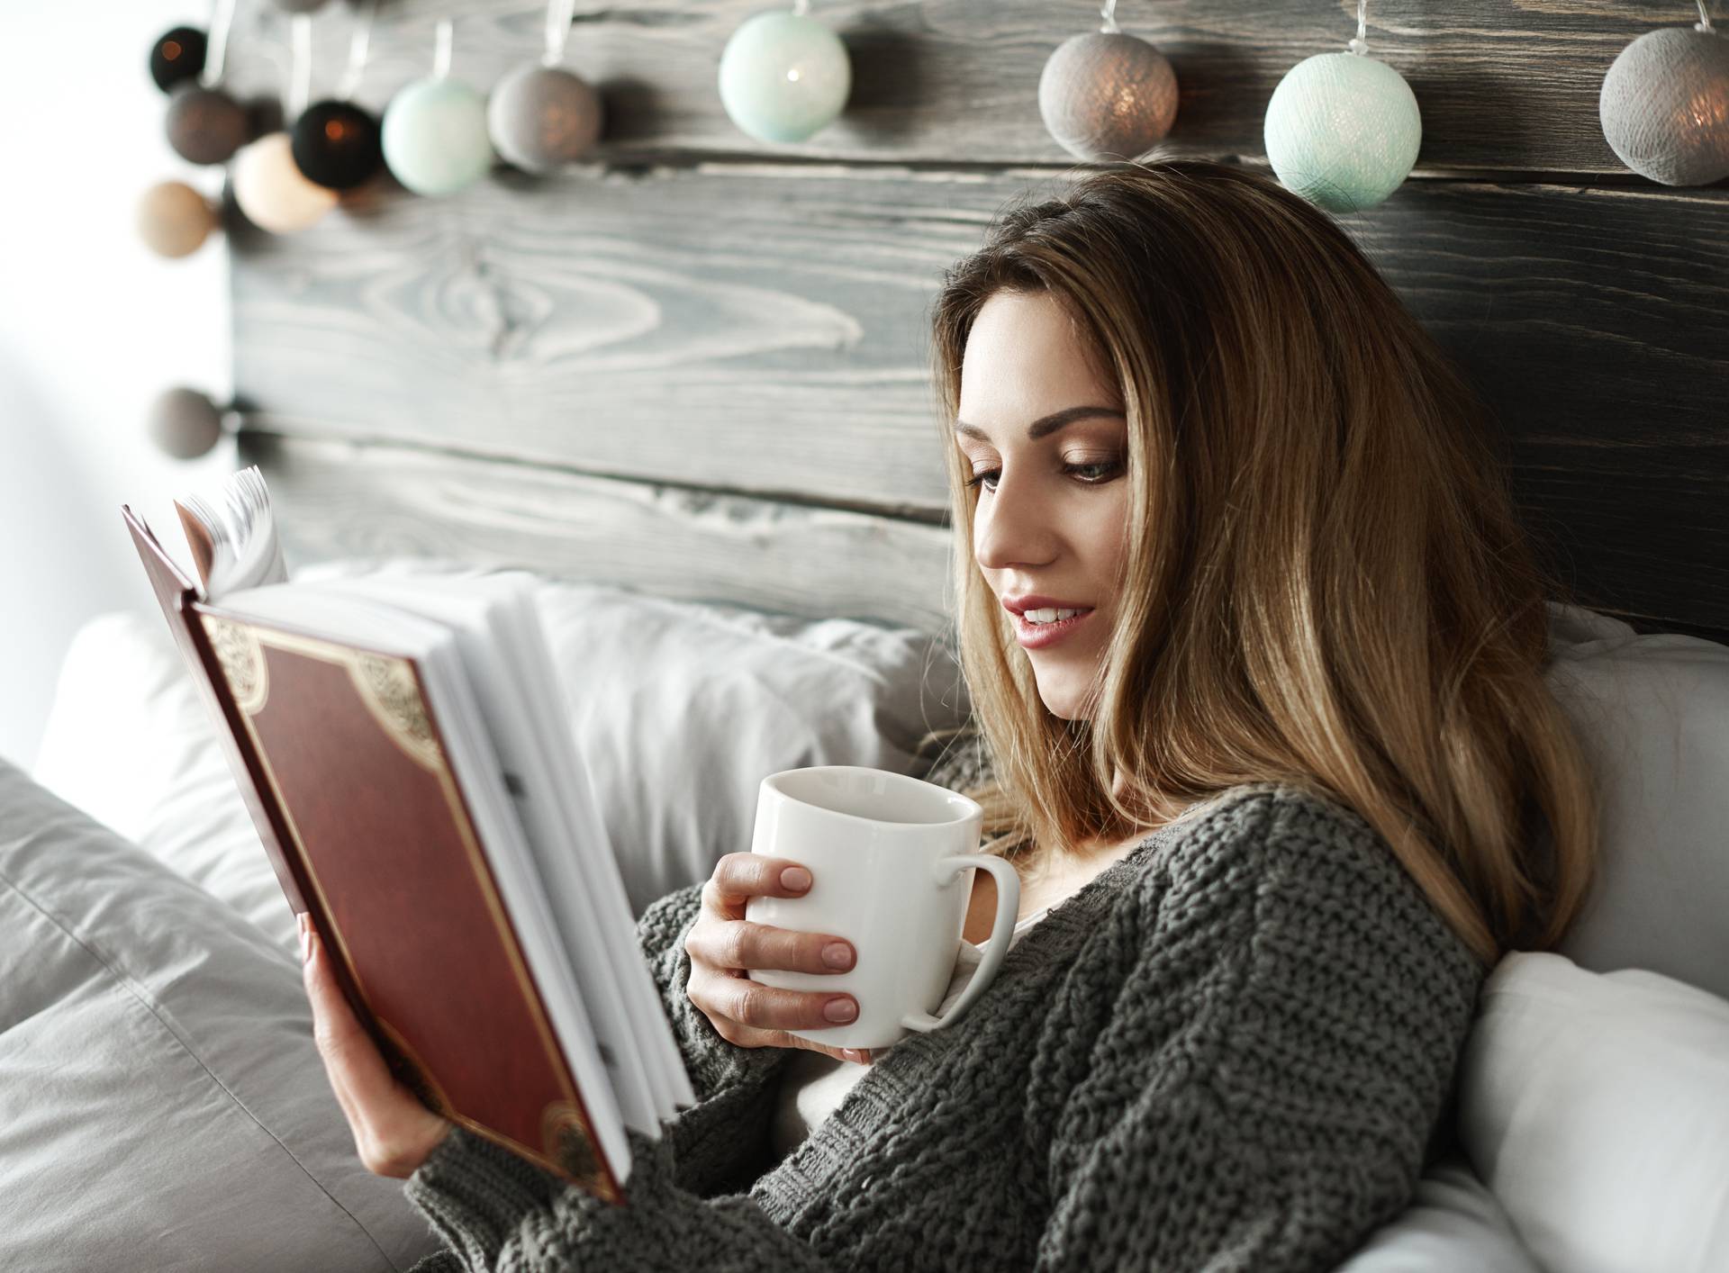
{"label": "wide middle plank of the wooden headboard, behind the woman's head", "polygon": [[[595,168],[233,227],[249,424],[939,522],[927,308],[1050,173]],[[716,214],[723,209],[724,214]],[[1729,626],[1729,190],[1425,182],[1345,218],[1598,604]]]}

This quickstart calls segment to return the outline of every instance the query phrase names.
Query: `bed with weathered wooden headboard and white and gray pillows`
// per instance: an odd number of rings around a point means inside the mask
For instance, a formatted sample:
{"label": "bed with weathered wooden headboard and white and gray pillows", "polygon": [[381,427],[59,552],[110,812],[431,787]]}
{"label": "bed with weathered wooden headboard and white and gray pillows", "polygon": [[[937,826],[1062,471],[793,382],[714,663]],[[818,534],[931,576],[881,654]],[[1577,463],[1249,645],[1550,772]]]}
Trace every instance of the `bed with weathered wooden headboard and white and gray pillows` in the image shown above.
{"label": "bed with weathered wooden headboard and white and gray pillows", "polygon": [[[1423,99],[1423,161],[1343,223],[1494,408],[1572,588],[1551,676],[1606,870],[1560,951],[1496,970],[1447,1154],[1343,1268],[1703,1273],[1729,1264],[1729,192],[1630,178],[1592,126],[1606,62],[1681,14],[1404,9],[1371,14],[1373,52]],[[465,5],[455,73],[533,57],[541,12]],[[749,12],[579,16],[609,140],[558,178],[386,183],[292,239],[225,216],[237,462],[265,470],[290,569],[531,573],[638,906],[737,846],[775,768],[958,771],[923,306],[1003,202],[1060,180],[1029,85],[1089,17],[849,5],[847,114],[768,154],[709,92]],[[441,16],[380,16],[358,100],[422,73]],[[1257,104],[1350,35],[1295,0],[1157,16],[1129,29],[1195,86],[1171,152],[1255,164]],[[265,107],[284,22],[237,28]],[[315,24],[315,64],[346,38]],[[1506,125],[1530,116],[1551,126]],[[354,1161],[285,903],[159,616],[86,624],[35,771],[0,764],[0,1264],[432,1249]]]}

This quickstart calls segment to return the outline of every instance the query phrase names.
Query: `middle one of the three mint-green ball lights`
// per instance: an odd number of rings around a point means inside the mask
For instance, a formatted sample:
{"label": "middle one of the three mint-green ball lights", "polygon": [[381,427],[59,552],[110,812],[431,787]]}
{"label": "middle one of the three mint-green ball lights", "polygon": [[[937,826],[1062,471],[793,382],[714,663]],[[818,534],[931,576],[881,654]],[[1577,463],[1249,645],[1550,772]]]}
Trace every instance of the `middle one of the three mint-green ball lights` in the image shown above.
{"label": "middle one of the three mint-green ball lights", "polygon": [[833,123],[852,92],[847,47],[814,17],[747,17],[721,50],[721,106],[759,142],[802,142]]}

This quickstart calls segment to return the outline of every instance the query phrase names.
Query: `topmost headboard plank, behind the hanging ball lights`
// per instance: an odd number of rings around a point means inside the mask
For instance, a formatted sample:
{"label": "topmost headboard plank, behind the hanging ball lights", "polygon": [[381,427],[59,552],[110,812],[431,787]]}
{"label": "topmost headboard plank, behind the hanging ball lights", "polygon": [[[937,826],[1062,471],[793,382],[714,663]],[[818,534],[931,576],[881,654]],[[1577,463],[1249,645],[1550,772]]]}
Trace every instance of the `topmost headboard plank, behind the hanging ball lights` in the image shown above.
{"label": "topmost headboard plank, behind the hanging ball lights", "polygon": [[[761,9],[761,0],[581,7],[565,57],[602,92],[609,123],[600,157],[773,150],[871,163],[1069,163],[1039,119],[1039,71],[1063,40],[1100,28],[1098,3],[813,5],[847,43],[852,95],[840,119],[787,147],[738,131],[716,88],[728,36]],[[1304,57],[1342,52],[1357,31],[1356,10],[1352,0],[1119,5],[1122,29],[1155,43],[1181,85],[1177,121],[1158,154],[1264,159],[1273,88]],[[456,19],[451,73],[486,92],[539,55],[545,12],[534,0],[467,0],[460,12],[431,0],[380,5],[356,100],[382,109],[425,74],[434,22],[446,16]],[[313,22],[315,92],[339,80],[351,16],[349,5],[327,5]],[[1625,173],[1598,123],[1603,74],[1634,38],[1693,21],[1693,5],[1677,0],[1375,0],[1368,40],[1369,54],[1416,93],[1421,173]],[[287,16],[240,5],[237,36],[232,81],[280,93]]]}

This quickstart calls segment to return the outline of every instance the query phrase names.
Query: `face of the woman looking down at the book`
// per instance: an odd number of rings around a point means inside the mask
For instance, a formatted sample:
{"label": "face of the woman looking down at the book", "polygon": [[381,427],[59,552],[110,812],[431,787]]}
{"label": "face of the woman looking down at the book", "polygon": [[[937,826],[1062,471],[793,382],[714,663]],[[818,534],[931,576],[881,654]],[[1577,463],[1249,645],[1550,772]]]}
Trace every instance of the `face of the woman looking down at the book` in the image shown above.
{"label": "face of the woman looking down at the book", "polygon": [[[1048,294],[998,292],[961,360],[954,441],[979,481],[973,557],[1032,662],[1044,706],[1091,714],[1127,550],[1129,427],[1119,387]],[[1020,611],[1081,611],[1058,623]]]}

